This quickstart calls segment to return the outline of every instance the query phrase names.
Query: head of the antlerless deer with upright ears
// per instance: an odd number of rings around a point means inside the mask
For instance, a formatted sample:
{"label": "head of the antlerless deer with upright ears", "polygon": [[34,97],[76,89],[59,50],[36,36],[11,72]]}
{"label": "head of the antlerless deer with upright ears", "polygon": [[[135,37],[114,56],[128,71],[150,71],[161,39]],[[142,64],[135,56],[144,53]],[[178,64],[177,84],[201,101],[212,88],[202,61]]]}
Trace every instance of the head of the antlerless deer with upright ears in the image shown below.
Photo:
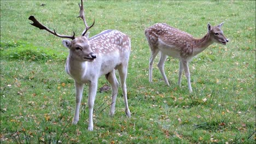
{"label": "head of the antlerless deer with upright ears", "polygon": [[211,24],[208,23],[207,28],[208,28],[208,34],[210,34],[210,38],[215,43],[226,45],[226,43],[229,42],[229,39],[225,37],[222,29],[220,29],[223,24],[224,22],[220,23],[218,26],[211,26]]}

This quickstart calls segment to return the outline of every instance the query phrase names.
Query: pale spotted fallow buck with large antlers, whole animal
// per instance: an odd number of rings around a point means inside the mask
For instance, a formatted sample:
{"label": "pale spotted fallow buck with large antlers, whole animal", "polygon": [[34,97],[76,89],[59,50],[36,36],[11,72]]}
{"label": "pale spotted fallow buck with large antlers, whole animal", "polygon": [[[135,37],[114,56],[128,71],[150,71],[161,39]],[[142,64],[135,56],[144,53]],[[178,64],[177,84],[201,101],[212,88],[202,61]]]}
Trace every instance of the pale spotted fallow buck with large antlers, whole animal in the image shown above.
{"label": "pale spotted fallow buck with large antlers, whole animal", "polygon": [[119,82],[115,76],[115,69],[119,71],[121,88],[123,89],[123,97],[125,102],[126,116],[130,117],[131,113],[127,102],[126,92],[126,76],[127,67],[131,51],[130,38],[117,30],[106,30],[94,37],[88,38],[89,33],[86,32],[94,25],[89,27],[85,20],[83,1],[79,4],[80,15],[85,24],[82,36],[75,38],[73,36],[57,34],[42,23],[36,20],[34,16],[29,19],[33,21],[31,25],[56,35],[61,38],[69,38],[70,40],[62,40],[62,44],[69,49],[66,61],[66,73],[74,79],[75,84],[75,113],[72,124],[77,124],[79,120],[79,108],[82,99],[84,83],[89,85],[88,107],[89,107],[89,125],[88,130],[93,130],[93,108],[96,97],[98,78],[105,75],[106,79],[112,87],[112,103],[110,105],[109,115],[114,115],[115,101],[117,99]]}

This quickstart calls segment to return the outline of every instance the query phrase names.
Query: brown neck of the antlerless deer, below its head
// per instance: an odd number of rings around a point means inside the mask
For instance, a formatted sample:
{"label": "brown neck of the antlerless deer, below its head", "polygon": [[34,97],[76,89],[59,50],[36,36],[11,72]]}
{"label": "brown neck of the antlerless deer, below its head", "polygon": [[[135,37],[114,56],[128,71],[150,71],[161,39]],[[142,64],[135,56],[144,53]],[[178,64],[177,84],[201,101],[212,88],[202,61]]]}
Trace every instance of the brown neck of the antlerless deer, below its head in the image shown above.
{"label": "brown neck of the antlerless deer, below its head", "polygon": [[193,50],[194,56],[202,52],[203,50],[205,50],[211,44],[213,44],[213,41],[210,38],[210,34],[208,33],[201,39],[195,39],[194,42],[195,42],[194,50]]}

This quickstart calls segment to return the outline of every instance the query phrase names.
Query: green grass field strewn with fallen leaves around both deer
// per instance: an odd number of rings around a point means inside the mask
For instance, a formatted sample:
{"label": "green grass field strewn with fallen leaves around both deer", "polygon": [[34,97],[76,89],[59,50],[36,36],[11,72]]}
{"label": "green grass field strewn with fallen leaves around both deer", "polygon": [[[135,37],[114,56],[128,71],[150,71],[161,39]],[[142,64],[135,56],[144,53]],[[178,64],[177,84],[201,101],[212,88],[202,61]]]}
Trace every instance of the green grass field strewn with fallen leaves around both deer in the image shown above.
{"label": "green grass field strewn with fallen leaves around both deer", "polygon": [[[87,86],[80,120],[71,124],[75,91],[62,39],[28,23],[34,15],[58,33],[80,35],[78,3],[1,1],[1,143],[255,143],[255,1],[86,1],[87,22],[95,19],[90,36],[118,29],[132,43],[132,116],[125,116],[120,88],[114,117],[108,115],[111,92],[98,92],[94,131],[87,130]],[[177,86],[178,59],[165,63],[170,87],[157,60],[148,82],[144,29],[164,22],[201,38],[208,22],[223,21],[229,43],[211,45],[189,64],[193,93],[184,75]],[[105,84],[101,77],[99,88]]]}

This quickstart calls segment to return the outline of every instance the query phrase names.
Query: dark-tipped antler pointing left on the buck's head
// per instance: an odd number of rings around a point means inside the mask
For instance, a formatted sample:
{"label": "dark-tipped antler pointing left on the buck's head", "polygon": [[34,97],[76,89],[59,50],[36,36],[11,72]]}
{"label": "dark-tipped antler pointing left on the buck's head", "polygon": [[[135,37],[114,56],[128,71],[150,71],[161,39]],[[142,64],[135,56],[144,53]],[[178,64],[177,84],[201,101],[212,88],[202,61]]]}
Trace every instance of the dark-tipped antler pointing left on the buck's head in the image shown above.
{"label": "dark-tipped antler pointing left on the buck's head", "polygon": [[61,35],[61,34],[58,34],[55,32],[55,29],[54,31],[52,31],[51,29],[49,29],[48,27],[44,26],[42,23],[40,23],[33,15],[31,15],[28,20],[31,20],[33,21],[33,23],[30,23],[32,26],[35,26],[35,27],[38,27],[39,29],[45,29],[46,31],[56,35],[57,37],[60,37],[60,38],[69,38],[69,39],[75,39],[74,35],[75,33],[73,32],[73,36],[69,36],[69,35]]}

